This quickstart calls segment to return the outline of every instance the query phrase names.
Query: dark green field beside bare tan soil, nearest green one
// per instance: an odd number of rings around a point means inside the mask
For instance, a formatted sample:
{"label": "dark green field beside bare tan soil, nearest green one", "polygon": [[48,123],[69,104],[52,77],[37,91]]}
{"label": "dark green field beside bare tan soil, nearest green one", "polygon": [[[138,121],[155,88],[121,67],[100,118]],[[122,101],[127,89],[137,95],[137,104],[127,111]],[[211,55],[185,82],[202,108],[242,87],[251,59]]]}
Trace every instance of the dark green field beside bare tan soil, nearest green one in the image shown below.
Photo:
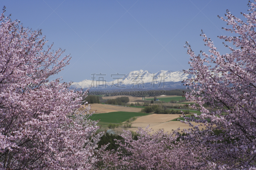
{"label": "dark green field beside bare tan soil, nearest green one", "polygon": [[108,123],[122,123],[128,119],[136,116],[146,116],[148,113],[137,113],[137,112],[109,112],[94,114],[90,117],[93,121],[99,120],[100,122]]}

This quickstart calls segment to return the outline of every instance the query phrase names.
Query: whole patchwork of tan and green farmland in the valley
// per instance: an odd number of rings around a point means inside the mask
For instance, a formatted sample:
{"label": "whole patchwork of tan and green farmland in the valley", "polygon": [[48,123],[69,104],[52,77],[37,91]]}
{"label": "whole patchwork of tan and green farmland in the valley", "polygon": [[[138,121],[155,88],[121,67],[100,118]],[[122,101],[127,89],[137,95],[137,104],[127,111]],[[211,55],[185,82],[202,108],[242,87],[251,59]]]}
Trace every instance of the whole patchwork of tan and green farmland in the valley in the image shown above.
{"label": "whole patchwork of tan and green farmland in the valley", "polygon": [[[116,99],[120,96],[103,96],[103,99]],[[189,128],[188,125],[181,123],[179,121],[176,121],[176,119],[179,118],[180,114],[147,114],[147,113],[139,113],[141,112],[142,108],[145,108],[145,105],[142,106],[144,103],[140,103],[140,105],[137,105],[138,100],[141,100],[139,97],[133,97],[128,96],[130,102],[128,103],[128,106],[115,106],[115,105],[106,105],[106,104],[91,104],[91,110],[90,112],[94,111],[95,113],[90,117],[92,120],[100,120],[98,122],[98,125],[101,126],[100,131],[106,131],[110,127],[109,125],[116,124],[119,127],[118,128],[112,128],[116,133],[122,133],[122,127],[125,123],[125,121],[137,117],[136,120],[130,121],[129,124],[132,128],[128,128],[130,131],[136,131],[138,127],[145,128],[150,124],[150,128],[153,128],[155,131],[158,129],[164,129],[165,131],[171,131],[172,129],[184,129]],[[158,96],[157,99],[160,101],[164,101],[164,103],[154,103],[150,105],[163,105],[165,107],[171,107],[171,106],[183,106],[184,104],[189,104],[190,102],[183,102],[181,103],[169,103],[171,100],[184,100],[182,96]],[[154,97],[146,97],[146,100],[154,100]],[[168,102],[168,103],[165,103]],[[130,103],[133,103],[134,105],[131,106]],[[136,106],[135,106],[136,105]],[[85,107],[84,107],[85,108]],[[169,109],[169,108],[168,108]],[[171,109],[172,110],[172,109]],[[183,111],[185,112],[185,109],[176,109],[173,108],[173,110],[177,111]],[[198,110],[189,110],[189,114],[200,114],[200,111]],[[108,128],[109,127],[109,128]],[[128,130],[127,129],[127,130]],[[153,133],[153,132],[152,132]]]}

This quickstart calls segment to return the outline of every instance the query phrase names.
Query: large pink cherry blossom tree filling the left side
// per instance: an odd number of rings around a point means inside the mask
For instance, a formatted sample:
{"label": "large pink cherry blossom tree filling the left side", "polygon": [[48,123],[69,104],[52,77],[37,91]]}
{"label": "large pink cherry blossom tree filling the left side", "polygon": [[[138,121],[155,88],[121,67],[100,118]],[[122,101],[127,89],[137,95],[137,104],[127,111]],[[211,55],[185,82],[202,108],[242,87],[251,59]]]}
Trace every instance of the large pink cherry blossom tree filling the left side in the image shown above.
{"label": "large pink cherry blossom tree filling the left side", "polygon": [[[5,8],[4,8],[5,11]],[[93,169],[101,134],[79,111],[87,92],[49,82],[71,59],[44,51],[41,30],[0,17],[0,169]],[[90,116],[90,114],[89,114]]]}

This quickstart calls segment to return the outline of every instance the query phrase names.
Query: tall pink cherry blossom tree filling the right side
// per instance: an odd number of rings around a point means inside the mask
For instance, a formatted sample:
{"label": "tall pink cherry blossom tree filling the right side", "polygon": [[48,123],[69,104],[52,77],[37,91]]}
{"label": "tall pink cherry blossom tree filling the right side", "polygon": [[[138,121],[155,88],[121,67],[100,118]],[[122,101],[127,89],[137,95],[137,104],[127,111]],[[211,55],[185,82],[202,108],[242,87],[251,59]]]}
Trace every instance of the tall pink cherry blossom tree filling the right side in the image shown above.
{"label": "tall pink cherry blossom tree filling the right side", "polygon": [[[195,77],[184,81],[192,90],[185,96],[199,104],[202,112],[182,121],[191,125],[191,129],[185,130],[185,138],[191,143],[203,144],[216,169],[256,168],[255,1],[248,6],[249,14],[241,13],[246,21],[229,11],[227,18],[220,17],[231,26],[223,29],[235,34],[219,36],[226,41],[223,44],[230,50],[229,54],[221,55],[203,32],[201,36],[209,47],[209,55],[203,51],[200,52],[202,56],[195,55],[188,42],[185,46],[191,68],[184,72]],[[203,107],[206,102],[211,109]],[[201,125],[206,128],[199,130]]]}

